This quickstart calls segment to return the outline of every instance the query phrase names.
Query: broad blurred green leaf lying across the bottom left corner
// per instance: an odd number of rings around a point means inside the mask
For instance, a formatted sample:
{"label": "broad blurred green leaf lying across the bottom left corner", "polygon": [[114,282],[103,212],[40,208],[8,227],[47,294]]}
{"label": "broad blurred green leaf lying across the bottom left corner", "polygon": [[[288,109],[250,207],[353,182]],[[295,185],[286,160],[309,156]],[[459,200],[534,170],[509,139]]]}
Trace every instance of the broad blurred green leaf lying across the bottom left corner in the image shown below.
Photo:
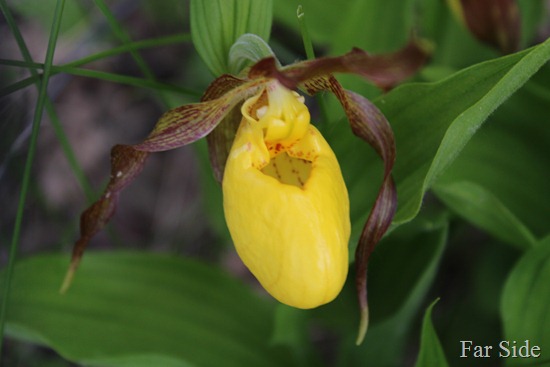
{"label": "broad blurred green leaf lying across the bottom left corner", "polygon": [[269,346],[274,304],[218,269],[152,253],[90,253],[60,295],[67,260],[17,264],[9,336],[87,365],[289,364]]}

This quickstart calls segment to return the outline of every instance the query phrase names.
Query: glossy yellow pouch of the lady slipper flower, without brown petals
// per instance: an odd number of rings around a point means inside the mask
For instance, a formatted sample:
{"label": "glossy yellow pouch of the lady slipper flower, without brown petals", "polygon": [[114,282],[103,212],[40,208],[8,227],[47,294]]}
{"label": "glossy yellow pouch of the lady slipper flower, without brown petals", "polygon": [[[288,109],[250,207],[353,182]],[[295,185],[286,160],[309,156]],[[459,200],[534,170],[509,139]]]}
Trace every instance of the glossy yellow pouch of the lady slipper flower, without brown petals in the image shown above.
{"label": "glossy yellow pouch of the lady slipper flower, without brown petals", "polygon": [[347,276],[350,236],[336,156],[310,124],[303,97],[277,81],[241,112],[223,178],[237,252],[280,302],[298,308],[330,302]]}

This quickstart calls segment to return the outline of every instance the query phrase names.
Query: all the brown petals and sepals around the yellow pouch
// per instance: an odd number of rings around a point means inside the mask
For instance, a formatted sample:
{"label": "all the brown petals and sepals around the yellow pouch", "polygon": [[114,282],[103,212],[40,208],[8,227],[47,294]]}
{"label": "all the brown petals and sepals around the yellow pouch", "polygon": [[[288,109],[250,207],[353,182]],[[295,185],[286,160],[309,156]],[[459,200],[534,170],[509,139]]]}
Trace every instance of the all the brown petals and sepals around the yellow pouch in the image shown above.
{"label": "all the brown petals and sepals around the yellow pouch", "polygon": [[277,69],[275,59],[267,58],[251,68],[247,80],[230,75],[216,79],[206,90],[201,102],[177,107],[162,115],[145,141],[134,146],[117,145],[113,148],[111,180],[103,196],[81,217],[81,236],[75,244],[71,267],[62,291],[70,285],[88,242],[112,217],[120,191],[141,172],[149,152],[174,149],[192,143],[213,132],[224,121],[209,139],[212,165],[216,177],[221,180],[237,121],[236,115],[228,114],[242,100],[257,93],[268,78],[275,78],[292,89],[304,85],[312,93],[320,90],[332,91],[342,103],[354,133],[366,140],[384,160],[384,180],[356,252],[357,289],[362,313],[358,341],[362,340],[368,319],[365,287],[368,259],[395,213],[397,198],[391,177],[395,145],[391,127],[380,111],[367,99],[344,90],[331,74],[359,74],[379,87],[388,89],[416,72],[426,58],[426,48],[413,39],[405,48],[393,54],[369,55],[362,50],[353,49],[340,57],[305,61],[282,70]]}

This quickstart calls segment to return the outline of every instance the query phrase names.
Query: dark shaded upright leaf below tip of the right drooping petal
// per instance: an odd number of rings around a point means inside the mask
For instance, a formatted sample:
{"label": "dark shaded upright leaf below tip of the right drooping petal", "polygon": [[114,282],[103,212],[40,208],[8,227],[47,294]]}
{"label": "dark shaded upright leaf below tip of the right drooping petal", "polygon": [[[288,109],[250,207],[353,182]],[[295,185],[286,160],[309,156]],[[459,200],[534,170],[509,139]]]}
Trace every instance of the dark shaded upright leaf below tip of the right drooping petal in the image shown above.
{"label": "dark shaded upright leaf below tip of the right drooping petal", "polygon": [[[414,319],[435,280],[447,233],[446,215],[423,216],[380,243],[369,264],[372,326],[359,347],[348,341],[353,335],[345,334],[339,366],[401,364]],[[339,312],[348,318],[345,325],[357,322],[354,298],[349,300],[347,311]]]}

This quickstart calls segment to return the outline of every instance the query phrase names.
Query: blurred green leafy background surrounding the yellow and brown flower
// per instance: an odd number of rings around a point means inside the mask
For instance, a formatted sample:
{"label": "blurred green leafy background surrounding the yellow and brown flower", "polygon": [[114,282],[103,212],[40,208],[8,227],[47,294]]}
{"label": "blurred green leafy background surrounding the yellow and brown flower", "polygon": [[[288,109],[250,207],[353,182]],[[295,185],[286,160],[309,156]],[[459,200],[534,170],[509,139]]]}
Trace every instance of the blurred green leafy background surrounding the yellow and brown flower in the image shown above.
{"label": "blurred green leafy background surrounding the yellow and brown flower", "polygon": [[[395,51],[412,32],[433,46],[428,64],[385,94],[338,76],[384,112],[397,143],[399,208],[369,265],[371,326],[360,347],[353,270],[334,302],[303,311],[277,304],[242,265],[204,141],[149,158],[70,292],[57,293],[111,147],[140,142],[217,75],[192,42],[188,1],[67,1],[54,21],[56,3],[0,0],[2,289],[19,236],[10,297],[2,293],[2,366],[550,366],[548,1],[502,2],[517,3],[521,19],[519,52],[508,56],[445,1],[300,2],[317,56]],[[205,4],[235,32],[211,41],[214,52],[264,32],[283,64],[306,58],[298,2]],[[195,20],[215,39],[217,25]],[[43,63],[57,25],[39,119],[32,71],[44,66],[25,60],[18,34]],[[353,253],[382,165],[335,99],[322,98],[326,114],[308,103],[348,185]],[[18,212],[33,119],[40,134]],[[500,341],[526,339],[541,357],[497,358]],[[494,356],[460,358],[461,340],[492,345]]]}

